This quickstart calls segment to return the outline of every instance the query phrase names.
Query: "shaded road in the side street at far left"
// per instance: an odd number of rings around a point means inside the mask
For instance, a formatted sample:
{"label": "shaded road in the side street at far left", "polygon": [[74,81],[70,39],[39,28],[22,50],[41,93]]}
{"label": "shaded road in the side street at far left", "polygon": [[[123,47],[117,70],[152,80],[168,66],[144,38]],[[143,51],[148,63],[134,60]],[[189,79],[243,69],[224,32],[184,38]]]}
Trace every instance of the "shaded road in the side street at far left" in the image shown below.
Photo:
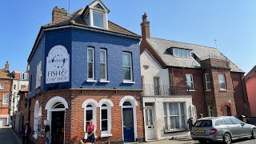
{"label": "shaded road in the side street at far left", "polygon": [[18,137],[14,134],[10,127],[0,128],[0,143],[20,144]]}

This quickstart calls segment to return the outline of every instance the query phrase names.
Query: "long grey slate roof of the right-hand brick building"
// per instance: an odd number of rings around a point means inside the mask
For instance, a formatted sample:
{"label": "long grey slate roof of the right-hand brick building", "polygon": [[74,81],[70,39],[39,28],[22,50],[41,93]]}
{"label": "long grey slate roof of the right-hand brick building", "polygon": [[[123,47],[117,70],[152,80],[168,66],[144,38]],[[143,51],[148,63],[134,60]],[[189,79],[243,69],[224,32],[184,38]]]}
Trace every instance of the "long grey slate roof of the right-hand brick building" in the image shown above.
{"label": "long grey slate roof of the right-hand brick building", "polygon": [[209,58],[208,56],[214,56],[215,58],[227,59],[230,62],[231,71],[243,72],[238,66],[236,66],[230,59],[226,58],[224,54],[218,51],[216,48],[208,46],[199,46],[186,42],[176,42],[161,38],[147,38],[147,42],[153,47],[157,54],[166,62],[167,66],[178,66],[186,68],[197,68],[201,65],[194,58],[177,58],[170,54],[167,50],[171,47],[178,47],[183,49],[192,50],[192,53],[196,54],[198,58],[204,60]]}

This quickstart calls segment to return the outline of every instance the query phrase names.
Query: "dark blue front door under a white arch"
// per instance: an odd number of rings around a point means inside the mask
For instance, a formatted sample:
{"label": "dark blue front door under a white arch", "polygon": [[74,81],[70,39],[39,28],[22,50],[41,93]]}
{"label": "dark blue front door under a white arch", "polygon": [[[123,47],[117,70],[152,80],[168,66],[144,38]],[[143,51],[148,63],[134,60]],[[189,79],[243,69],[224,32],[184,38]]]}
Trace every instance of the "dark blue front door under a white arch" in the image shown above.
{"label": "dark blue front door under a white arch", "polygon": [[134,142],[134,113],[133,108],[122,109],[124,142]]}

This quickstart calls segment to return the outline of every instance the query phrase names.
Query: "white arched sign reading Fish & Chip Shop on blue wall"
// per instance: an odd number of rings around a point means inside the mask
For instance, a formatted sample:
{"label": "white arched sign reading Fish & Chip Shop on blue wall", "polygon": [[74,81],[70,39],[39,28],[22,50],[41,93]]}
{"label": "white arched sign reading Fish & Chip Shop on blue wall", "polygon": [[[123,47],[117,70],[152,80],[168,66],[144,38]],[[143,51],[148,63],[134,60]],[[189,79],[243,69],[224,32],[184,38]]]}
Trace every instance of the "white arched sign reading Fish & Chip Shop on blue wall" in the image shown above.
{"label": "white arched sign reading Fish & Chip Shop on blue wall", "polygon": [[70,82],[70,54],[64,46],[51,48],[46,58],[46,84]]}

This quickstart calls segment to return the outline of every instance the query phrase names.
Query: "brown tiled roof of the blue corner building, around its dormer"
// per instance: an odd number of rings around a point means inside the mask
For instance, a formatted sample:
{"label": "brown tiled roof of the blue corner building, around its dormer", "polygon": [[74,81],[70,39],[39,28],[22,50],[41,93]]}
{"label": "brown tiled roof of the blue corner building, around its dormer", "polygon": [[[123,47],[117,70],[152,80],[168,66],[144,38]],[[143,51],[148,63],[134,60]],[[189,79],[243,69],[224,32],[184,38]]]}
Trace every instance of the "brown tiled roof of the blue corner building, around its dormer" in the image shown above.
{"label": "brown tiled roof of the blue corner building, around its dormer", "polygon": [[140,38],[140,35],[135,34],[135,33],[131,32],[130,30],[126,30],[122,26],[118,26],[114,22],[110,22],[110,21],[108,22],[109,30],[103,30],[100,28],[88,26],[88,24],[82,17],[82,13],[85,9],[86,8],[77,10],[72,14],[68,14],[62,18],[59,18],[58,21],[56,21],[56,22],[50,22],[50,23],[42,26],[42,28],[50,28],[50,27],[55,27],[55,26],[68,26],[68,25],[72,24],[72,25],[76,25],[76,26],[84,26],[84,27],[88,27],[91,29],[108,31],[108,32],[116,33],[116,34],[125,34],[128,36],[134,36],[134,37]]}

